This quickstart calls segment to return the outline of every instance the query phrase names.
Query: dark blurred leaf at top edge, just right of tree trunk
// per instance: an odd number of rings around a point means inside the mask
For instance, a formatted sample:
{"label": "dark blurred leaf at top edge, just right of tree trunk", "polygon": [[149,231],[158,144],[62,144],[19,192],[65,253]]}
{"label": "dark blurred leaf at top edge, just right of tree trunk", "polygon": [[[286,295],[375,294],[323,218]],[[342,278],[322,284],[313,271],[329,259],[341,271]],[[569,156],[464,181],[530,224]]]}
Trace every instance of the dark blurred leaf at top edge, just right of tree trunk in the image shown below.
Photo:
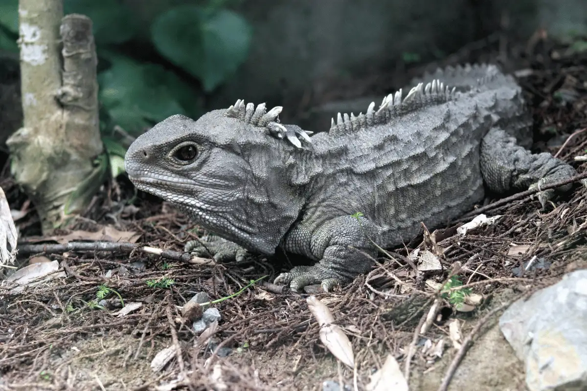
{"label": "dark blurred leaf at top edge, just right of tree trunk", "polygon": [[66,14],[82,13],[92,19],[98,45],[123,43],[137,32],[135,18],[124,2],[118,0],[65,0],[63,10]]}

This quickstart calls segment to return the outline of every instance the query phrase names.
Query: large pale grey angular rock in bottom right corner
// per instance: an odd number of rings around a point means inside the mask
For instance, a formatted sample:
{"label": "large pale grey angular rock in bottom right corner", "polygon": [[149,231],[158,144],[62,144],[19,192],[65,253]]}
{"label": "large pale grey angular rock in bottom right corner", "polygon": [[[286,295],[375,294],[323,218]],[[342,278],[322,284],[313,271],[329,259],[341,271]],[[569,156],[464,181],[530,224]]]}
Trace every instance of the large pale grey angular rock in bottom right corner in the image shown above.
{"label": "large pale grey angular rock in bottom right corner", "polygon": [[500,328],[525,363],[528,389],[587,389],[587,270],[518,300]]}

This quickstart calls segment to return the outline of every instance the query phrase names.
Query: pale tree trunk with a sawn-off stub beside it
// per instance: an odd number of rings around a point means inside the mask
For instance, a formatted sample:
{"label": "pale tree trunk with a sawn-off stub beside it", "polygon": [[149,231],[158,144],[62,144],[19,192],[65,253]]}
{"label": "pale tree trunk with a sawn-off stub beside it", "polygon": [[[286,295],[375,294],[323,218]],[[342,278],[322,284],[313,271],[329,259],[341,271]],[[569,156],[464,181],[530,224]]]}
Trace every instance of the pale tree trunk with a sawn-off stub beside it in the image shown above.
{"label": "pale tree trunk with a sawn-off stub beside it", "polygon": [[21,0],[19,18],[24,121],[6,144],[11,172],[48,233],[84,212],[109,172],[96,49],[92,21],[63,18],[63,0]]}

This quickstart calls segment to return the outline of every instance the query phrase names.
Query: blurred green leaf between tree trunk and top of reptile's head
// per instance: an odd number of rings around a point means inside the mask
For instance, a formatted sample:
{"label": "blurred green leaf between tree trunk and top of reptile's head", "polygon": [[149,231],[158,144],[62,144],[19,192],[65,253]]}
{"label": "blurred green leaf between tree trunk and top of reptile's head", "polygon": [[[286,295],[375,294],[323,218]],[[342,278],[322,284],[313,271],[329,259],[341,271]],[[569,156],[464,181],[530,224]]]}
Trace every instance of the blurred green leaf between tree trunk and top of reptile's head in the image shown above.
{"label": "blurred green leaf between tree trunk and top of reptile's head", "polygon": [[[174,114],[200,114],[196,94],[176,74],[157,64],[111,55],[112,67],[98,75],[99,99],[112,118],[130,134],[140,134]],[[187,110],[181,102],[190,102]]]}

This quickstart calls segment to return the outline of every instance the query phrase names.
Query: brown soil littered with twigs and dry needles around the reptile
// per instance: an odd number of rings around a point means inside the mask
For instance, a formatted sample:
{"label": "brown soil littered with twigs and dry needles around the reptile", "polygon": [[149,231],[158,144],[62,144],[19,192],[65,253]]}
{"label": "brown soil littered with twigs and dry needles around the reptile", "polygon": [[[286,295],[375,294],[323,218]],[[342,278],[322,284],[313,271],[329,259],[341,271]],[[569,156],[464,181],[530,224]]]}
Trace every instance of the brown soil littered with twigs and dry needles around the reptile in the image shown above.
{"label": "brown soil littered with twigs and dry needles around the reptile", "polygon": [[[586,53],[573,53],[569,46],[545,38],[543,32],[529,42],[508,46],[504,52],[503,42],[483,42],[426,67],[492,59],[517,71],[534,113],[535,151],[551,152],[578,172],[585,171],[585,163],[574,158],[585,155],[587,149]],[[367,90],[383,96],[423,69],[412,66],[402,74],[379,74],[343,86],[333,83],[328,96],[310,94],[300,107],[357,97]],[[16,223],[21,240],[30,241],[39,234],[34,210],[8,169],[2,178],[0,186],[12,208],[27,212]],[[191,322],[181,320],[178,306],[196,293],[205,292],[212,300],[228,297],[251,280],[267,275],[270,281],[299,260],[278,255],[203,266],[140,251],[21,257],[22,265],[58,260],[58,273],[65,275],[21,291],[0,287],[0,390],[335,390],[339,382],[345,389],[363,390],[388,354],[403,370],[413,340],[410,385],[436,390],[458,351],[449,338],[448,322],[458,319],[464,338],[502,303],[553,284],[570,270],[587,267],[586,192],[575,185],[546,210],[537,199],[512,200],[485,212],[502,216],[492,225],[460,237],[454,228],[472,217],[452,222],[432,238],[420,236],[406,248],[382,254],[379,266],[348,287],[329,294],[313,287],[336,324],[349,335],[355,371],[325,349],[320,327],[308,310],[306,292],[278,291],[271,284],[257,283],[214,304],[221,320],[203,335],[194,332]],[[134,233],[140,243],[151,247],[176,251],[183,250],[186,240],[205,234],[167,203],[144,193],[135,197],[124,177],[96,197],[75,229],[82,237],[84,233],[91,237],[104,225],[127,236]],[[56,232],[53,239],[69,233]],[[416,247],[440,254],[443,270],[414,273],[406,256]],[[530,260],[537,267],[518,273]],[[471,312],[459,312],[448,300],[441,300],[434,322],[417,335],[421,319],[437,297],[426,282],[444,283],[451,270],[462,283],[471,284],[471,293],[482,295],[484,302]],[[152,286],[162,278],[173,284]],[[103,284],[111,290],[106,301],[99,307],[92,305]],[[126,305],[140,302],[141,307],[118,316],[121,304],[114,291]],[[449,389],[525,389],[523,365],[495,326],[499,315],[492,314],[483,324]],[[445,344],[440,354],[432,354],[427,346],[441,339]],[[151,361],[168,347],[175,349],[173,357],[154,372]],[[330,388],[323,386],[327,380],[333,382]]]}

